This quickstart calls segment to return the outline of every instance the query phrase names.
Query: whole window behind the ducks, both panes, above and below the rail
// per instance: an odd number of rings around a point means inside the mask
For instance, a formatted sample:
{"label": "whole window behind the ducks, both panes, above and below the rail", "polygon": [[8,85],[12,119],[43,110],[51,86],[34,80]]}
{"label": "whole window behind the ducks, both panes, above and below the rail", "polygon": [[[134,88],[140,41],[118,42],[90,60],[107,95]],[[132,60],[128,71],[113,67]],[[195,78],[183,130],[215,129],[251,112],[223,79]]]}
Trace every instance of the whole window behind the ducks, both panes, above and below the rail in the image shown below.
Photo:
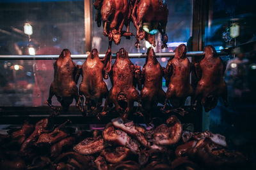
{"label": "whole window behind the ducks, both panes, above and below the rail", "polygon": [[[161,49],[161,36],[157,34],[155,52],[173,52],[180,43],[186,44],[192,32],[193,1],[166,3],[169,10],[166,27],[168,49]],[[108,38],[103,35],[102,25],[97,27],[95,13],[92,7],[92,47],[99,53],[106,53]],[[132,22],[131,32],[136,34]],[[112,52],[116,53],[121,47],[129,53],[147,52],[145,40],[141,41],[140,49],[135,48],[135,41],[135,36],[122,38],[120,45],[113,45]],[[68,48],[72,54],[86,53],[83,0],[0,2],[0,55],[59,55],[63,48]],[[165,67],[168,59],[158,60]],[[145,59],[132,59],[132,62],[142,68]],[[45,105],[54,76],[53,63],[54,60],[0,60],[1,106]],[[106,82],[110,89],[111,82]],[[164,79],[163,88],[167,89]],[[52,104],[59,104],[56,97],[53,97]]]}

